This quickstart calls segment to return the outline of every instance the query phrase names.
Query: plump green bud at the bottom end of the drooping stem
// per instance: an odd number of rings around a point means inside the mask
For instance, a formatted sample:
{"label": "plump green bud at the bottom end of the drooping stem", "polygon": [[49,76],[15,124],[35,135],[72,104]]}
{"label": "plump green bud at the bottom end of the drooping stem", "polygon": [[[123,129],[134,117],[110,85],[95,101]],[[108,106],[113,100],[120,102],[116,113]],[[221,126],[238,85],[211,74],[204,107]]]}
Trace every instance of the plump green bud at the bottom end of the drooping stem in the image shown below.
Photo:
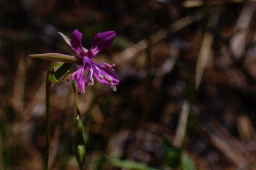
{"label": "plump green bud at the bottom end of the drooping stem", "polygon": [[83,169],[86,160],[86,149],[83,135],[78,131],[75,140],[76,161],[80,169]]}

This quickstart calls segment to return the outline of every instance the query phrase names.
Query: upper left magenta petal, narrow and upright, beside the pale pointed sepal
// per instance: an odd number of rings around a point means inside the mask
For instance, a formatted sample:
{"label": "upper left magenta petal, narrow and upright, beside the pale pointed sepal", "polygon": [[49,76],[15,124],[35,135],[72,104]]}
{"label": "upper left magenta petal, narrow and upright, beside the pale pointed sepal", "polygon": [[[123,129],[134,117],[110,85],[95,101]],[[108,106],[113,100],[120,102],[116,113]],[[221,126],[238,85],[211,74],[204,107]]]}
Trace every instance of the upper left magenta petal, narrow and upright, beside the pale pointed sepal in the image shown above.
{"label": "upper left magenta petal, narrow and upright, beside the pale pointed sepal", "polygon": [[81,55],[82,52],[84,52],[81,40],[82,40],[82,33],[79,32],[77,29],[71,34],[71,47],[74,51],[77,52],[77,54]]}

